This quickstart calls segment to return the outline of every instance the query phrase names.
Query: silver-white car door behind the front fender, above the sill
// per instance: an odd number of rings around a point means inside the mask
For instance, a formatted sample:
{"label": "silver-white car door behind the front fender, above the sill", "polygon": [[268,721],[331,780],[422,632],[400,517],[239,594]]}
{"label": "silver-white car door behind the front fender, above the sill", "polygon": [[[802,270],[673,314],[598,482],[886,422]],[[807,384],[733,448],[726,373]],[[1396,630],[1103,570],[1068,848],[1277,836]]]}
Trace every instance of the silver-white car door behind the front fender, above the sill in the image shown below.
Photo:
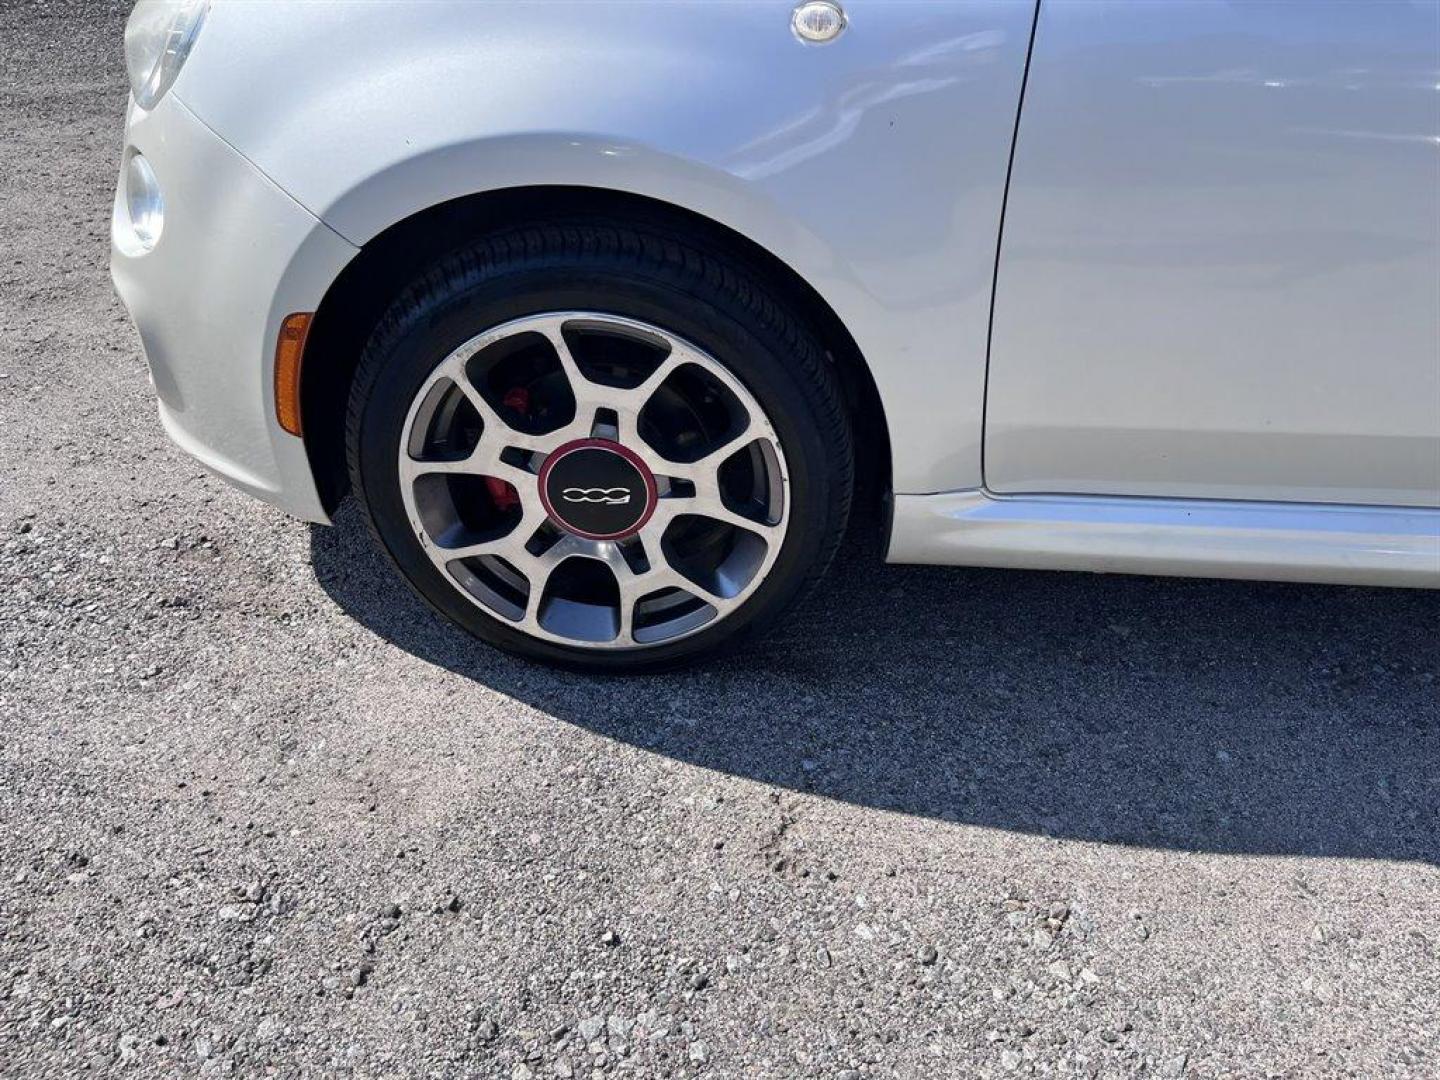
{"label": "silver-white car door behind the front fender, above the sill", "polygon": [[995,492],[1440,505],[1433,0],[1043,0]]}

